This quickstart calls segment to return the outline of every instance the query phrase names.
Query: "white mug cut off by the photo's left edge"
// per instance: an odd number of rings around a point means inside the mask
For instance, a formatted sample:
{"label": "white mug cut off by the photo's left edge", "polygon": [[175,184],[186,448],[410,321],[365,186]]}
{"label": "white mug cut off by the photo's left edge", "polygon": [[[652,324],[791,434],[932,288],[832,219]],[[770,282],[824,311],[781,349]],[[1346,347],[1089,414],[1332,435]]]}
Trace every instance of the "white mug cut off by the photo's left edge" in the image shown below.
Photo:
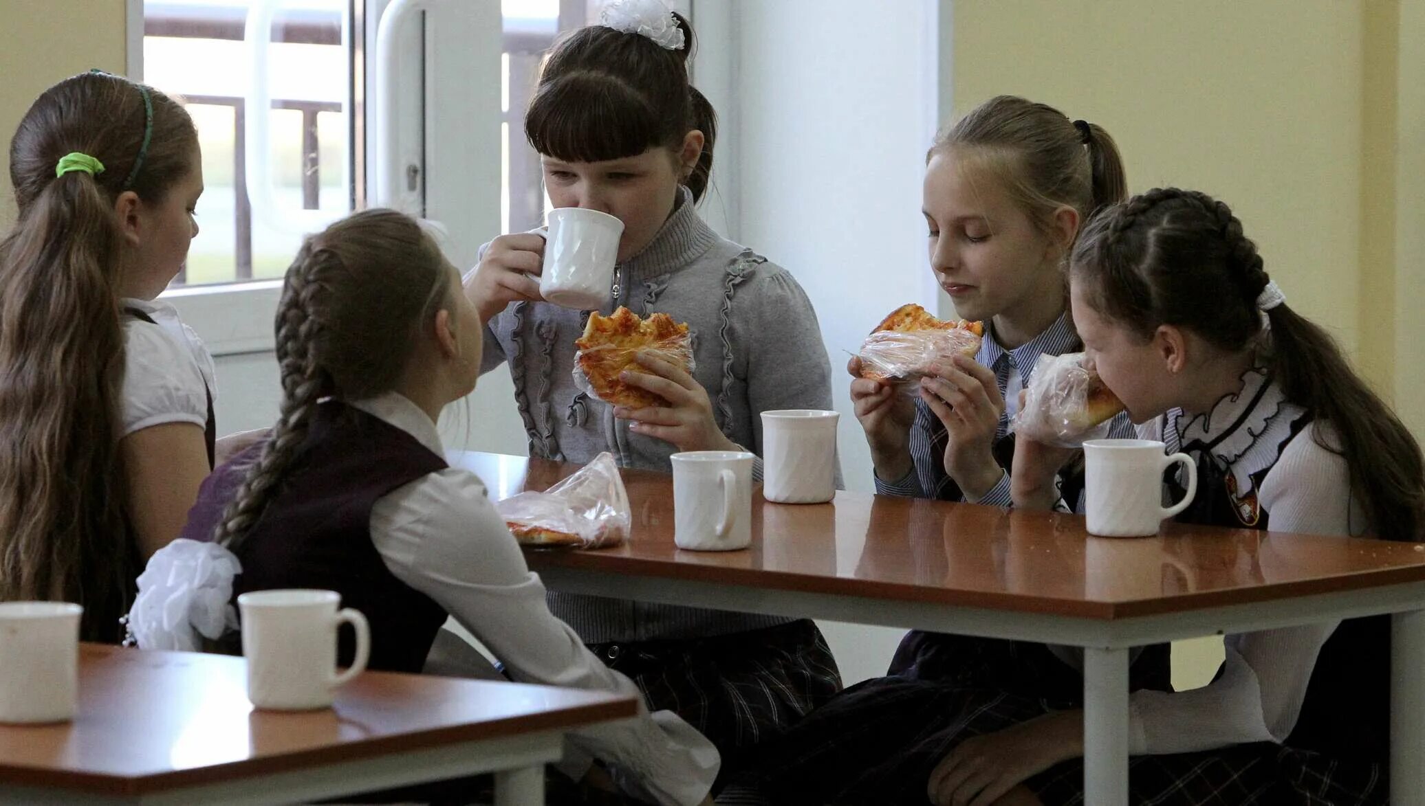
{"label": "white mug cut off by the photo's left edge", "polygon": [[74,716],[83,612],[70,602],[0,604],[0,722]]}

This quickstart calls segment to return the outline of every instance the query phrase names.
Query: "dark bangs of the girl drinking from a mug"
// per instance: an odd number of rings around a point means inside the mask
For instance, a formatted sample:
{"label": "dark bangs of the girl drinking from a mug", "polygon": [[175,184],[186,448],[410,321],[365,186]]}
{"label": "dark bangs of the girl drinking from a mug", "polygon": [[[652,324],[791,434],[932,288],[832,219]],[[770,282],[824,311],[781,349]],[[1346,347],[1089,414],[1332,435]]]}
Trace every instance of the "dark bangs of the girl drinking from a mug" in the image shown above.
{"label": "dark bangs of the girl drinking from a mug", "polygon": [[660,120],[618,80],[577,71],[539,88],[524,115],[524,137],[542,155],[566,162],[601,162],[681,141],[683,132],[671,131],[678,122]]}

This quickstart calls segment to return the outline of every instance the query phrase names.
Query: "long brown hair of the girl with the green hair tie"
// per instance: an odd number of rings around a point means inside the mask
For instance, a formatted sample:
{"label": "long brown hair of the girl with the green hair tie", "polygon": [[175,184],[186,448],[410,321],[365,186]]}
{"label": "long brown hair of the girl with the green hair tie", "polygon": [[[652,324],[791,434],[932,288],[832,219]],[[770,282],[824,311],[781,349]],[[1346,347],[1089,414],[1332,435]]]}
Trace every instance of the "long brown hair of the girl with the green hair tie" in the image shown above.
{"label": "long brown hair of the girl with the green hair tie", "polygon": [[[20,215],[0,242],[0,600],[80,602],[91,641],[117,641],[142,562],[118,460],[114,202],[134,191],[158,204],[197,142],[177,103],[107,74],[47,90],[10,142]],[[56,177],[73,151],[104,171]]]}

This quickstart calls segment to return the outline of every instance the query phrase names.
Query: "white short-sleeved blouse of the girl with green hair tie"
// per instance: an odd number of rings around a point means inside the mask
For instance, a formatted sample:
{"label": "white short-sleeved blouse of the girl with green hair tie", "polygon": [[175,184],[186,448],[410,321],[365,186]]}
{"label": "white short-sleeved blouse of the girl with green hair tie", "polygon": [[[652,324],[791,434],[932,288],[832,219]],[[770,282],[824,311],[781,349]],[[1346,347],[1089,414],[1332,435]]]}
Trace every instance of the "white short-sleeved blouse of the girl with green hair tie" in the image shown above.
{"label": "white short-sleeved blouse of the girl with green hair tie", "polygon": [[120,437],[165,423],[208,423],[208,390],[217,400],[212,356],[172,305],[121,299],[120,308],[142,310],[157,325],[121,312],[124,384]]}

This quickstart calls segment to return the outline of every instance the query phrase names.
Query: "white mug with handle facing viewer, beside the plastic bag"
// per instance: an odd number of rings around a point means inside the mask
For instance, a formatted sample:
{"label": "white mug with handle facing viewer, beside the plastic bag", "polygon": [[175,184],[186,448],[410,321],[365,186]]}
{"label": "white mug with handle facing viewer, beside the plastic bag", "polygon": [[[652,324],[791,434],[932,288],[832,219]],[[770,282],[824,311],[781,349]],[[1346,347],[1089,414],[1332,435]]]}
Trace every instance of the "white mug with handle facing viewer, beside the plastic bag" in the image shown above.
{"label": "white mug with handle facing viewer, beside the plastic bag", "polygon": [[673,543],[735,551],[752,543],[752,460],[735,450],[673,454]]}

